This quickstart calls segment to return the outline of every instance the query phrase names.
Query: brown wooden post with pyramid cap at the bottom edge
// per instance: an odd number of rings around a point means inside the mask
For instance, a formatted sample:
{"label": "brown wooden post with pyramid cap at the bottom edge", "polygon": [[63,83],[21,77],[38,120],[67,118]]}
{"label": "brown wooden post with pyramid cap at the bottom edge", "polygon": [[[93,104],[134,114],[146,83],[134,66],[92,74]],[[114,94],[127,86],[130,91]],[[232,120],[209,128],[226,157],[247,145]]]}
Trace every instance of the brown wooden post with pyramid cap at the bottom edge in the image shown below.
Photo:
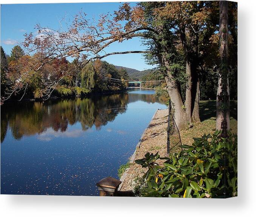
{"label": "brown wooden post with pyramid cap at the bottom edge", "polygon": [[121,183],[120,180],[109,176],[100,180],[96,185],[100,191],[100,196],[114,196]]}

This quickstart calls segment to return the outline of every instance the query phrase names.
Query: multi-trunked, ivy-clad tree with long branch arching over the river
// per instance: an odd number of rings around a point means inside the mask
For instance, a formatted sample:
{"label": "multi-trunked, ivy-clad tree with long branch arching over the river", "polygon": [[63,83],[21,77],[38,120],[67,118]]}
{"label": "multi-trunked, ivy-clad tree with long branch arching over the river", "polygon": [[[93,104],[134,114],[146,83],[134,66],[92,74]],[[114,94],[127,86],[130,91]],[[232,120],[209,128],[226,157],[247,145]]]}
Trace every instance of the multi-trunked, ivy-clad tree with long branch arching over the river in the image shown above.
{"label": "multi-trunked, ivy-clad tree with long branch arching over the river", "polygon": [[[75,57],[84,67],[109,55],[147,54],[150,63],[159,65],[158,71],[166,81],[177,128],[184,129],[188,124],[200,121],[199,74],[204,68],[204,47],[216,31],[216,8],[216,2],[211,1],[142,2],[134,7],[123,3],[114,16],[101,15],[98,21],[88,19],[81,12],[66,31],[37,25],[42,37],[38,39],[32,33],[25,34],[23,45],[30,53],[40,51],[45,55],[34,67],[35,71],[56,58]],[[105,52],[112,43],[122,43],[134,37],[142,37],[148,49]],[[103,68],[104,77],[120,79],[119,73],[112,71],[112,66]],[[49,84],[46,88],[49,86],[54,87]]]}

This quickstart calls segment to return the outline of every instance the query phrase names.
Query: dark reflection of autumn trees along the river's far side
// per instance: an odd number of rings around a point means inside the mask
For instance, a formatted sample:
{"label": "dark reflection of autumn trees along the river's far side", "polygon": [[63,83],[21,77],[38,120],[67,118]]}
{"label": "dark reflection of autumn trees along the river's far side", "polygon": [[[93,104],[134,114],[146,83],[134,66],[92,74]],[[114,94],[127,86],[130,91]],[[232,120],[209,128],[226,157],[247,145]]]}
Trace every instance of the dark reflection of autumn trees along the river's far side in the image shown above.
{"label": "dark reflection of autumn trees along the river's far side", "polygon": [[[125,112],[128,103],[139,100],[147,103],[158,102],[151,92],[133,94],[133,91],[129,91],[129,93],[64,99],[45,103],[27,102],[18,105],[3,105],[1,106],[1,143],[5,139],[8,128],[11,129],[12,136],[16,140],[21,139],[24,135],[65,132],[68,125],[74,125],[77,122],[81,123],[83,131],[88,130],[93,125],[99,130],[101,126],[113,121],[117,114]],[[54,132],[47,131],[49,128]],[[72,134],[78,135],[78,132],[72,132]]]}

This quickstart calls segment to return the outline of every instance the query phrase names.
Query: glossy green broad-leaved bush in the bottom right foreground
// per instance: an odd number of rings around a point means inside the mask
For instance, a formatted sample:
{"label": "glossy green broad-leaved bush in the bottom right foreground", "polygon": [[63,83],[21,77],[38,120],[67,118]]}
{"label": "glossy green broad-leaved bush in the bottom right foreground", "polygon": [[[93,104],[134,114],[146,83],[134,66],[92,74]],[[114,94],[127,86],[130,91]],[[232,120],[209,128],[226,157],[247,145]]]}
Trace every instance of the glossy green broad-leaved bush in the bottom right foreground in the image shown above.
{"label": "glossy green broad-leaved bush in the bottom right foreground", "polygon": [[[224,139],[220,131],[194,138],[192,146],[160,158],[147,153],[135,162],[148,168],[144,197],[234,197],[237,195],[237,135]],[[166,159],[163,166],[157,159]]]}

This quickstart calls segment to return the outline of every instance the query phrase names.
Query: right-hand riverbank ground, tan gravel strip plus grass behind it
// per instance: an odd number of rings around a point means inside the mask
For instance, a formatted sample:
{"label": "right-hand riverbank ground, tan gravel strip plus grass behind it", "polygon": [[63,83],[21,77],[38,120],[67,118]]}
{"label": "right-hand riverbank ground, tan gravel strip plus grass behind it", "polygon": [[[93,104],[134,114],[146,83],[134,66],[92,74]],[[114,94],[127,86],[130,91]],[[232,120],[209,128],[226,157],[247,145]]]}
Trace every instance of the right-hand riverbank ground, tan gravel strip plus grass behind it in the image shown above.
{"label": "right-hand riverbank ground, tan gravel strip plus grass behind it", "polygon": [[[237,101],[230,102],[230,131],[237,133]],[[180,139],[182,144],[191,145],[195,137],[201,137],[204,134],[213,134],[216,129],[216,101],[205,100],[199,104],[201,122],[195,123],[193,128],[188,128],[180,131]],[[147,171],[141,165],[134,163],[134,160],[144,158],[147,152],[155,154],[157,151],[160,156],[167,155],[167,124],[168,124],[168,109],[157,110],[150,124],[145,130],[140,139],[139,146],[130,158],[130,168],[127,168],[121,177],[121,191],[133,189],[134,179],[142,177]],[[178,135],[170,136],[170,152],[178,152],[180,148]],[[162,165],[164,160],[157,160],[159,165]]]}

